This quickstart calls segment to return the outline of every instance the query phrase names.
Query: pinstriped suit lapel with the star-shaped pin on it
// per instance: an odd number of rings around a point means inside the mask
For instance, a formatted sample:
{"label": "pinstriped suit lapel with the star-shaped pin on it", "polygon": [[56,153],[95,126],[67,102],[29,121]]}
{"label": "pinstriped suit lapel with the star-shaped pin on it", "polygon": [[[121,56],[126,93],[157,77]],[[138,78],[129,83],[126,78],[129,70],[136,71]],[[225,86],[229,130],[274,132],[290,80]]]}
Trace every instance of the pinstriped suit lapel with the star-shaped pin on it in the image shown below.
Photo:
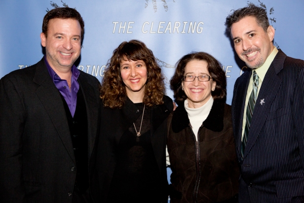
{"label": "pinstriped suit lapel with the star-shaped pin on it", "polygon": [[[279,51],[274,61],[271,63],[260,87],[261,89],[259,91],[253,111],[244,158],[256,142],[260,130],[262,129],[267,115],[269,114],[270,107],[273,104],[273,101],[281,86],[282,80],[277,74],[282,70],[285,58],[286,55],[282,51]],[[261,103],[261,101],[264,103]]]}

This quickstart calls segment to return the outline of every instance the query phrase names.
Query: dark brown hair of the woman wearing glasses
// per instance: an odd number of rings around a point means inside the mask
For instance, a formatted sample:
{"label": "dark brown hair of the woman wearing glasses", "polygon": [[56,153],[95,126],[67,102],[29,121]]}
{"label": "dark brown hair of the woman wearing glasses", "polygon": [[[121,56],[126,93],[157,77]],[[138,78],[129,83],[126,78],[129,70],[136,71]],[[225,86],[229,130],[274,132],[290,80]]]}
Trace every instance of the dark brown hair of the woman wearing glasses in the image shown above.
{"label": "dark brown hair of the woman wearing glasses", "polygon": [[170,87],[173,90],[176,103],[183,102],[187,96],[182,90],[181,82],[185,72],[185,66],[188,62],[193,60],[203,60],[208,63],[207,69],[212,77],[212,80],[216,82],[215,90],[211,92],[213,99],[223,99],[226,101],[226,76],[222,70],[222,65],[213,56],[205,52],[192,52],[184,55],[177,61],[176,70],[173,77],[170,80]]}

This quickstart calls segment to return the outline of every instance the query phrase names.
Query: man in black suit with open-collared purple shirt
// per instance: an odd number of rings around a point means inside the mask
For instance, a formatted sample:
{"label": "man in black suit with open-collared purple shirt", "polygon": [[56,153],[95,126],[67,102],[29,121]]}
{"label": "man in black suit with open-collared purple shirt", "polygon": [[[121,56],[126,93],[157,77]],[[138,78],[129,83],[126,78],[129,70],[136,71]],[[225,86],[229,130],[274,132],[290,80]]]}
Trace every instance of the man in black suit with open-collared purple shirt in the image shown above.
{"label": "man in black suit with open-collared purple shirt", "polygon": [[83,35],[75,9],[49,11],[46,55],[0,80],[0,202],[92,202],[99,82],[74,65]]}

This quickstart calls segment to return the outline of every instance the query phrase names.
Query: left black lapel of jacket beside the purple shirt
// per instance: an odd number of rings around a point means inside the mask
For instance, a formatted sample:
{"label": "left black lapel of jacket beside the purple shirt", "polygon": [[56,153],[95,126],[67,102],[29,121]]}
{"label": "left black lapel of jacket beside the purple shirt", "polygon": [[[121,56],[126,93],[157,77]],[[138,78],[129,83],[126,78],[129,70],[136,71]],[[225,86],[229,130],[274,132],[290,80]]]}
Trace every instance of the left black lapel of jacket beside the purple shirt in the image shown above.
{"label": "left black lapel of jacket beside the purple shirt", "polygon": [[44,59],[37,64],[36,73],[33,82],[40,86],[35,90],[36,95],[46,109],[57,133],[65,146],[66,151],[75,163],[72,140],[68,128],[68,122],[63,107],[60,92],[54,85],[47,70]]}

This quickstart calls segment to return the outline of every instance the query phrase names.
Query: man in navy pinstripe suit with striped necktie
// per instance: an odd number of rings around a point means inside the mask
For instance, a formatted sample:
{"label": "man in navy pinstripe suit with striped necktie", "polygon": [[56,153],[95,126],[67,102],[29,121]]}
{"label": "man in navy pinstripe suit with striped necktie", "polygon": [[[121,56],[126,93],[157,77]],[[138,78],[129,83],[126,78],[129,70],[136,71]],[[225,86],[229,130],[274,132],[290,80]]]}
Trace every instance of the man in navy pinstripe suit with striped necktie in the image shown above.
{"label": "man in navy pinstripe suit with striped necktie", "polygon": [[238,9],[225,25],[250,67],[232,100],[239,202],[304,202],[304,61],[273,45],[263,8]]}

